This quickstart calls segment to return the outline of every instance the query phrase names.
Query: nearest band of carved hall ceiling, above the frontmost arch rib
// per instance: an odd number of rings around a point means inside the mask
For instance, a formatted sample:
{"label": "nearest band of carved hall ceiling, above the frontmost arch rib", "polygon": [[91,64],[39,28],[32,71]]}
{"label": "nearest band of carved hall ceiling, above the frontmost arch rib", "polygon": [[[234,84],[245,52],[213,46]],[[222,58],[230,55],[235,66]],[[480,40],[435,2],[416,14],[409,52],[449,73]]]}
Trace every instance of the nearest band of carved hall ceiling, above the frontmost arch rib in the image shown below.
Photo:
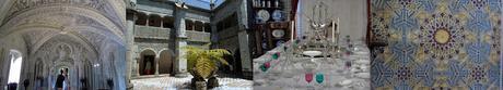
{"label": "nearest band of carved hall ceiling, above the frontmost arch rib", "polygon": [[118,25],[126,21],[125,0],[1,0],[0,26],[20,13],[49,5],[73,5],[95,10]]}

